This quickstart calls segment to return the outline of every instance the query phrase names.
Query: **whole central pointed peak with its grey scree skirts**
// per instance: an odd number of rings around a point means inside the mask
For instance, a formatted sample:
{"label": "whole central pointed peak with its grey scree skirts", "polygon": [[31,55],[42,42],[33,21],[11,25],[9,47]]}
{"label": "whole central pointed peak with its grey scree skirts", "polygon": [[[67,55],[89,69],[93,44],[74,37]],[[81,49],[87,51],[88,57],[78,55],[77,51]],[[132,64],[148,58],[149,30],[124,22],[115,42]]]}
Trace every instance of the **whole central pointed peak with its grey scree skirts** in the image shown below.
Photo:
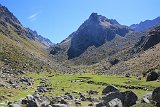
{"label": "whole central pointed peak with its grey scree skirts", "polygon": [[74,64],[94,64],[134,46],[141,36],[116,20],[92,13],[77,31],[51,47],[50,53],[58,61],[69,59]]}

